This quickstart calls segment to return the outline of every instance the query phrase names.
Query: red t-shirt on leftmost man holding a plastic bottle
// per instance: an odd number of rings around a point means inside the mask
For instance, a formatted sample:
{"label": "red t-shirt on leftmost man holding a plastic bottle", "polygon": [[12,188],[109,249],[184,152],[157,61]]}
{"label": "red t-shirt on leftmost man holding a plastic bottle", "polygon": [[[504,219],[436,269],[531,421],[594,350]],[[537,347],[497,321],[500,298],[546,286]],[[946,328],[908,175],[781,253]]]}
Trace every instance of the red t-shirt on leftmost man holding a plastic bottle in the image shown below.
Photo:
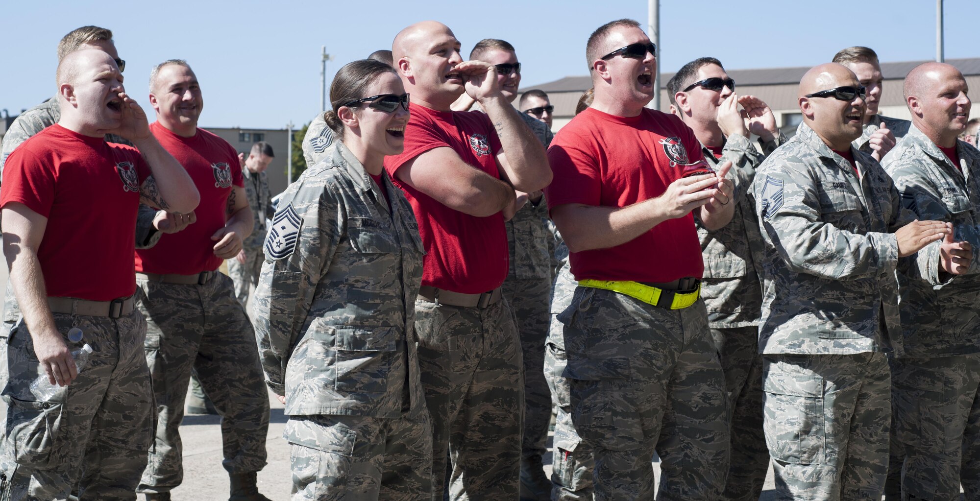
{"label": "red t-shirt on leftmost man holding a plastic bottle", "polygon": [[108,301],[136,291],[139,187],[150,167],[134,148],[54,124],[10,154],[0,206],[48,218],[37,258],[48,296]]}

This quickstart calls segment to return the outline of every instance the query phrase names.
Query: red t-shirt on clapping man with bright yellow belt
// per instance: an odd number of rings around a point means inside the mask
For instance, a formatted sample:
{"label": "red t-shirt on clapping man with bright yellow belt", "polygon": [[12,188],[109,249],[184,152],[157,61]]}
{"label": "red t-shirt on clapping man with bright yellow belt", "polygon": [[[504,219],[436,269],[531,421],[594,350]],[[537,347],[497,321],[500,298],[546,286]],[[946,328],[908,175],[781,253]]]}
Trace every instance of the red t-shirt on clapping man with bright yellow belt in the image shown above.
{"label": "red t-shirt on clapping man with bright yellow belt", "polygon": [[[548,150],[555,178],[545,189],[548,208],[584,204],[624,207],[660,197],[684,167],[704,162],[701,144],[672,114],[644,109],[614,116],[589,108],[555,135]],[[671,282],[700,278],[701,244],[688,213],[667,219],[639,237],[609,249],[571,252],[576,280]]]}

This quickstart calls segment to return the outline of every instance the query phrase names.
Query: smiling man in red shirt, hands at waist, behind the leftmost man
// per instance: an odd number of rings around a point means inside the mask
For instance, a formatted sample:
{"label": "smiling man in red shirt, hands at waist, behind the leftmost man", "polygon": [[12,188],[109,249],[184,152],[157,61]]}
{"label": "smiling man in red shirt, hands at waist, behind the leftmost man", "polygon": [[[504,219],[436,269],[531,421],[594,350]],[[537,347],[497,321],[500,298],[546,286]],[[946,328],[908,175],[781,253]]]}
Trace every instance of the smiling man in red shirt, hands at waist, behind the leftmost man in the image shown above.
{"label": "smiling man in red shirt, hands at waist, behind the leftmost man", "polygon": [[153,135],[187,169],[201,205],[187,229],[136,251],[137,304],[149,324],[146,358],[159,409],[157,445],[136,490],[148,500],[167,500],[183,479],[177,429],[194,369],[223,417],[222,464],[231,478],[230,499],[266,501],[257,490],[256,472],[266,465],[269,395],[252,324],[231,279],[217,271],[252,233],[238,154],[198,128],[204,100],[186,62],[170,60],[153,68],[150,104],[157,112]]}

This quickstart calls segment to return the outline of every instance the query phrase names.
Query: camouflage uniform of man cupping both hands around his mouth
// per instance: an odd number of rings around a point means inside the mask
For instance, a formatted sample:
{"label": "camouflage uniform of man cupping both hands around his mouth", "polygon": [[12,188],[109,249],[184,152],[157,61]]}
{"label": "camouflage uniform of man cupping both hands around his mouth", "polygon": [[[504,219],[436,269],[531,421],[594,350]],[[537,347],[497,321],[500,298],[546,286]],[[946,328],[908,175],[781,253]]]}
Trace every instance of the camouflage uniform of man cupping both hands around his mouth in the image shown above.
{"label": "camouflage uniform of man cupping both hands around his mouth", "polygon": [[[762,142],[772,153],[786,138]],[[762,308],[762,236],[756,203],[749,192],[756,168],[765,156],[748,138],[728,136],[721,159],[703,147],[712,167],[731,160],[735,184],[735,214],[718,230],[708,230],[695,212],[705,274],[701,296],[708,308],[711,337],[721,357],[730,409],[731,462],[720,499],[756,500],[769,468],[769,451],[762,433],[762,357],[759,318]]]}

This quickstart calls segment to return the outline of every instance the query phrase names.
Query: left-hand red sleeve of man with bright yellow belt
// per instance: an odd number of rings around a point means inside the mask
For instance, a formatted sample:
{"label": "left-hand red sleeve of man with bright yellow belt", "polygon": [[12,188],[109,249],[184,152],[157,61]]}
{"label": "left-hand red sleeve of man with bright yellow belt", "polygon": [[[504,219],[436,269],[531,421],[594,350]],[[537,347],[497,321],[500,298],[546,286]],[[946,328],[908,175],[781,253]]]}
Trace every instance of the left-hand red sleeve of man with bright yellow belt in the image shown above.
{"label": "left-hand red sleeve of man with bright yellow belt", "polygon": [[595,153],[568,143],[553,143],[548,149],[548,162],[555,174],[545,188],[548,209],[564,204],[600,205],[602,174]]}

